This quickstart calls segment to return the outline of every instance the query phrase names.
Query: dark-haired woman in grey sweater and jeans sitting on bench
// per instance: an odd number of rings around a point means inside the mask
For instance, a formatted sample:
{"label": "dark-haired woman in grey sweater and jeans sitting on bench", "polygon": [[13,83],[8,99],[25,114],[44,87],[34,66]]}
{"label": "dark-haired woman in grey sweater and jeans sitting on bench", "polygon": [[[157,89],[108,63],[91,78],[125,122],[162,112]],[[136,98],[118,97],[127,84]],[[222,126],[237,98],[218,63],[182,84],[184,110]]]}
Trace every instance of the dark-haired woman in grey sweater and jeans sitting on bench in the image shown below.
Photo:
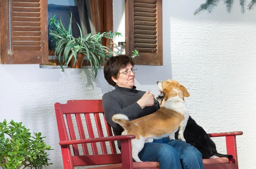
{"label": "dark-haired woman in grey sweater and jeans sitting on bench", "polygon": [[[114,135],[121,135],[123,128],[111,119],[115,114],[127,115],[134,120],[156,112],[160,105],[150,91],[136,90],[134,60],[127,55],[111,57],[105,64],[104,76],[115,87],[102,97],[105,119],[113,128]],[[164,104],[164,103],[162,103]],[[120,141],[118,148],[121,149]],[[203,169],[202,155],[193,146],[181,140],[154,140],[145,143],[139,153],[142,161],[157,161],[160,169]]]}

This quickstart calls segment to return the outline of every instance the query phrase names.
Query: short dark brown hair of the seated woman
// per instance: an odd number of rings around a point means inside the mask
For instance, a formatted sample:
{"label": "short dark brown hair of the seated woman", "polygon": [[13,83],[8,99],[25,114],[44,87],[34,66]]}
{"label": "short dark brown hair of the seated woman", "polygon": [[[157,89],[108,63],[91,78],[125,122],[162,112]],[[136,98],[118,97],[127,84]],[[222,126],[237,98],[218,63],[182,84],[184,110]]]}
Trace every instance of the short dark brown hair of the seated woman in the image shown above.
{"label": "short dark brown hair of the seated woman", "polygon": [[121,69],[124,69],[128,64],[134,66],[134,60],[125,54],[119,54],[111,57],[107,60],[104,66],[104,77],[108,84],[115,86],[116,83],[112,80],[112,76],[117,78],[117,75]]}

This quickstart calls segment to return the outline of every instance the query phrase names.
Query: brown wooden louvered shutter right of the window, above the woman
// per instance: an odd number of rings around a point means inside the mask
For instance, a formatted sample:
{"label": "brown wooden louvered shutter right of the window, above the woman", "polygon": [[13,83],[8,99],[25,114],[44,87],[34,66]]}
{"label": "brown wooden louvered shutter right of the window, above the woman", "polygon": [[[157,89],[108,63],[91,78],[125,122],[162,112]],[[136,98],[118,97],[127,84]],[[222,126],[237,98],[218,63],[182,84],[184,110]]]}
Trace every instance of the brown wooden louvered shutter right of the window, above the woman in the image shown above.
{"label": "brown wooden louvered shutter right of the window, above the woman", "polygon": [[125,53],[138,65],[163,65],[162,0],[125,0]]}

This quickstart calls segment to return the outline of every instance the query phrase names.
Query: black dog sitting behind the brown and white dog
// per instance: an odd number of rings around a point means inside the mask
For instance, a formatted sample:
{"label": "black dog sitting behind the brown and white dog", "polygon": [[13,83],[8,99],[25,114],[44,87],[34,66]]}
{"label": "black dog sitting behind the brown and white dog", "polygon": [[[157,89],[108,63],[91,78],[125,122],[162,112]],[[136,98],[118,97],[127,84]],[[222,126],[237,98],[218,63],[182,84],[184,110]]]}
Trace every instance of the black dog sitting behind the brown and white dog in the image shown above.
{"label": "black dog sitting behind the brown and white dog", "polygon": [[[157,101],[160,103],[160,105],[162,100],[163,94],[157,96]],[[216,150],[216,145],[209,135],[190,116],[183,135],[186,143],[189,143],[197,148],[203,155],[203,158],[214,158],[214,155],[218,157],[233,158],[233,155],[223,155],[218,153]],[[178,131],[175,133],[175,139],[177,139],[177,137]]]}

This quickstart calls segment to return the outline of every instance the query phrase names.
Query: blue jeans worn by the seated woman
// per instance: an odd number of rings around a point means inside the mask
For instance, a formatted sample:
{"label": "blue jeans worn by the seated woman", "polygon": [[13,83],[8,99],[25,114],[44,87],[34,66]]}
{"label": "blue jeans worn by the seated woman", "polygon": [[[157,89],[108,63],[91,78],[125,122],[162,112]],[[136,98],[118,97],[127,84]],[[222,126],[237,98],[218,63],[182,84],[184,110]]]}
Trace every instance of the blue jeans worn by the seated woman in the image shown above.
{"label": "blue jeans worn by the seated woman", "polygon": [[139,153],[142,161],[157,161],[160,169],[204,169],[202,155],[181,140],[154,140],[145,143]]}

